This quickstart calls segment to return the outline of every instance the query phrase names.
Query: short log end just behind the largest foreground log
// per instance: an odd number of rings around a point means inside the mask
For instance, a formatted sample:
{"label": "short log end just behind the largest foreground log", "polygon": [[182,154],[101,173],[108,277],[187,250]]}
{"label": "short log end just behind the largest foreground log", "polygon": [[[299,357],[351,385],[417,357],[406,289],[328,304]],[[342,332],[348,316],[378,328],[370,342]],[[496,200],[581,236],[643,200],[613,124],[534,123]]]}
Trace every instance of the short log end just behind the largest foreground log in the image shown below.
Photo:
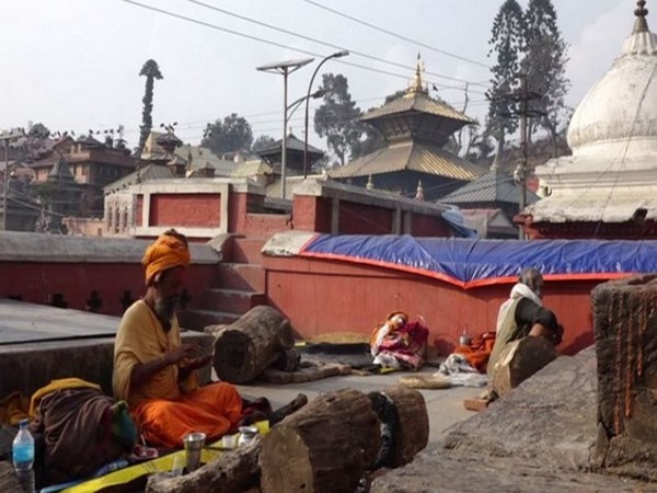
{"label": "short log end just behind the largest foreground log", "polygon": [[396,468],[411,462],[429,443],[429,414],[418,390],[395,386],[384,388],[382,393],[393,402],[399,419],[395,445],[385,465]]}

